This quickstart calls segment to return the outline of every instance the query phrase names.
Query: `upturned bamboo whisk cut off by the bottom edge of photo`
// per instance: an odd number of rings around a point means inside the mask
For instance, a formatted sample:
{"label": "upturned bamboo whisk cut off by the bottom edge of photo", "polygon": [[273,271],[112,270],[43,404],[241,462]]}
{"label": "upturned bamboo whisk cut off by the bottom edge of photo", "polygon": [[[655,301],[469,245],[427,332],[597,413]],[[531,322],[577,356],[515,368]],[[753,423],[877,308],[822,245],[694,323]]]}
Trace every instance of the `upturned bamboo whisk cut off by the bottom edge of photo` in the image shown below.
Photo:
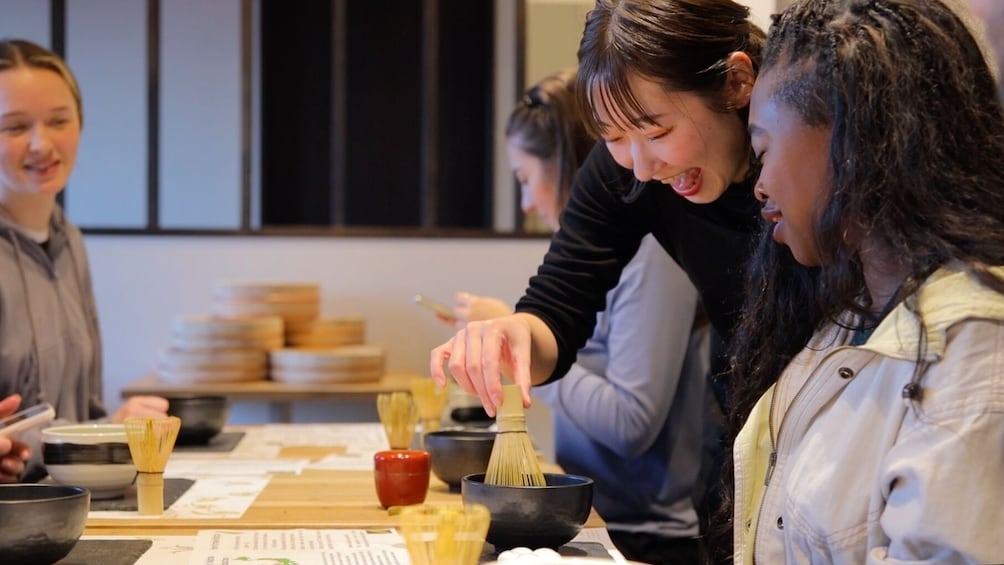
{"label": "upturned bamboo whisk cut off by the bottom edge of photo", "polygon": [[491,522],[484,505],[408,506],[400,516],[413,565],[477,565]]}

